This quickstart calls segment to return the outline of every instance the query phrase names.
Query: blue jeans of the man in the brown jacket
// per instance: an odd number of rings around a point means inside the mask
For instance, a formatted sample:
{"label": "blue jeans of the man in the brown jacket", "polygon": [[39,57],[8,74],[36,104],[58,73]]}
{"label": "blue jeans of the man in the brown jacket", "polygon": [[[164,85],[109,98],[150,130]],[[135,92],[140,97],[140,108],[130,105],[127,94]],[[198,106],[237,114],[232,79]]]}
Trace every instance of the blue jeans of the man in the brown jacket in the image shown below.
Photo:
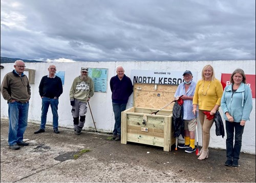
{"label": "blue jeans of the man in the brown jacket", "polygon": [[23,141],[23,135],[28,125],[29,102],[20,103],[15,101],[8,102],[9,115],[9,145]]}

